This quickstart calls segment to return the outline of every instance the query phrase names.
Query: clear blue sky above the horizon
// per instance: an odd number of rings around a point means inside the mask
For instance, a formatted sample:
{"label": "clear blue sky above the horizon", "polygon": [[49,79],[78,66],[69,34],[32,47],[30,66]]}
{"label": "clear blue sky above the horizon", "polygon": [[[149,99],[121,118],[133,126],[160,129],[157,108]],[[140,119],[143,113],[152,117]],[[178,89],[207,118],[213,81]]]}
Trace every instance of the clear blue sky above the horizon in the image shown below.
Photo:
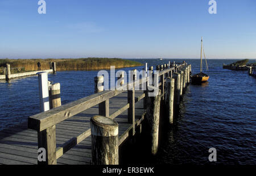
{"label": "clear blue sky above the horizon", "polygon": [[256,58],[256,1],[0,1],[0,58]]}

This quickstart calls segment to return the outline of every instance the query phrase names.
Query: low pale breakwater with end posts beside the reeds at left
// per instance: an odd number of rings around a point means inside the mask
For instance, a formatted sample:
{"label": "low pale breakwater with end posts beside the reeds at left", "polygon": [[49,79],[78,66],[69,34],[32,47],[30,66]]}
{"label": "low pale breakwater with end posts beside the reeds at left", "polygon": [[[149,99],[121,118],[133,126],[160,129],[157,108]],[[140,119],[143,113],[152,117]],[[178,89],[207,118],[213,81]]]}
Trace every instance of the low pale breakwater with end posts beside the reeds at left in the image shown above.
{"label": "low pale breakwater with end posts beside the reeds at left", "polygon": [[11,74],[11,65],[6,64],[6,69],[4,72],[5,74],[0,75],[0,80],[10,81],[10,79],[32,76],[32,75],[36,75],[40,72],[56,73],[56,62],[51,62],[49,70],[38,70],[38,71],[34,71],[34,72],[24,72],[24,73],[15,73],[15,74]]}

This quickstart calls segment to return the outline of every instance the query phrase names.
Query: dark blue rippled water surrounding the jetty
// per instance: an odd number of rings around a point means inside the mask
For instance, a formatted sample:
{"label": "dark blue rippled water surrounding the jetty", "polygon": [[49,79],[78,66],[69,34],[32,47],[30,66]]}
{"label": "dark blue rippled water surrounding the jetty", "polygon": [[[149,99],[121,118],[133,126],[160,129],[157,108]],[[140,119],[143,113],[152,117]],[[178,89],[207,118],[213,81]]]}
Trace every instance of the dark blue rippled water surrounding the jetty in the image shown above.
{"label": "dark blue rippled water surrounding the jetty", "polygon": [[[139,61],[148,66],[168,62]],[[192,64],[192,73],[200,72],[200,60],[185,61]],[[256,79],[245,71],[222,69],[223,63],[234,61],[208,60],[209,82],[188,86],[174,128],[161,139],[156,163],[209,164],[208,149],[214,147],[217,164],[256,164]],[[95,76],[96,71],[48,75],[49,80],[60,83],[63,104],[93,94]],[[0,93],[0,130],[39,113],[38,77],[2,81]]]}

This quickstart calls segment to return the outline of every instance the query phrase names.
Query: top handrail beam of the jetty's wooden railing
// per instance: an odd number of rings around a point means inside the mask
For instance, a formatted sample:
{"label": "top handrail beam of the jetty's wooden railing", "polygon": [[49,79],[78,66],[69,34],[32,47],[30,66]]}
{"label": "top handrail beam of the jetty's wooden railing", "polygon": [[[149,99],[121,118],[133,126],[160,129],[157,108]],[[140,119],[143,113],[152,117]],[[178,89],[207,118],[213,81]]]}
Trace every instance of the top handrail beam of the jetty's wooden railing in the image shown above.
{"label": "top handrail beam of the jetty's wooden railing", "polygon": [[[174,68],[168,68],[159,72],[159,76],[171,72]],[[130,82],[124,86],[127,88],[132,87],[135,83],[141,85],[142,82],[147,82],[150,77],[141,78],[137,81]],[[32,115],[28,118],[28,128],[35,129],[36,131],[43,131],[44,129],[51,127],[61,121],[71,118],[72,116],[79,114],[82,111],[87,110],[97,104],[104,102],[105,100],[115,97],[123,93],[125,90],[105,90],[100,93],[89,95],[88,97],[81,98],[75,102],[64,104],[63,106],[53,108],[52,110],[41,112],[36,115]]]}

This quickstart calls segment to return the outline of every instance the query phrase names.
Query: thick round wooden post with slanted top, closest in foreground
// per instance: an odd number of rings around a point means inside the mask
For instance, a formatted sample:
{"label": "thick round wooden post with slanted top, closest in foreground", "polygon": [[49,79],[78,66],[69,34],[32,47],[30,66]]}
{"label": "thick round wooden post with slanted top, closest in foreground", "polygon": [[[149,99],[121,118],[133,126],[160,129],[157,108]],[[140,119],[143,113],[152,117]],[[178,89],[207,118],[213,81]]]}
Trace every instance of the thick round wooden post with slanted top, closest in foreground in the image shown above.
{"label": "thick round wooden post with slanted top, closest in foreground", "polygon": [[118,123],[105,116],[90,119],[92,133],[92,163],[118,165]]}

